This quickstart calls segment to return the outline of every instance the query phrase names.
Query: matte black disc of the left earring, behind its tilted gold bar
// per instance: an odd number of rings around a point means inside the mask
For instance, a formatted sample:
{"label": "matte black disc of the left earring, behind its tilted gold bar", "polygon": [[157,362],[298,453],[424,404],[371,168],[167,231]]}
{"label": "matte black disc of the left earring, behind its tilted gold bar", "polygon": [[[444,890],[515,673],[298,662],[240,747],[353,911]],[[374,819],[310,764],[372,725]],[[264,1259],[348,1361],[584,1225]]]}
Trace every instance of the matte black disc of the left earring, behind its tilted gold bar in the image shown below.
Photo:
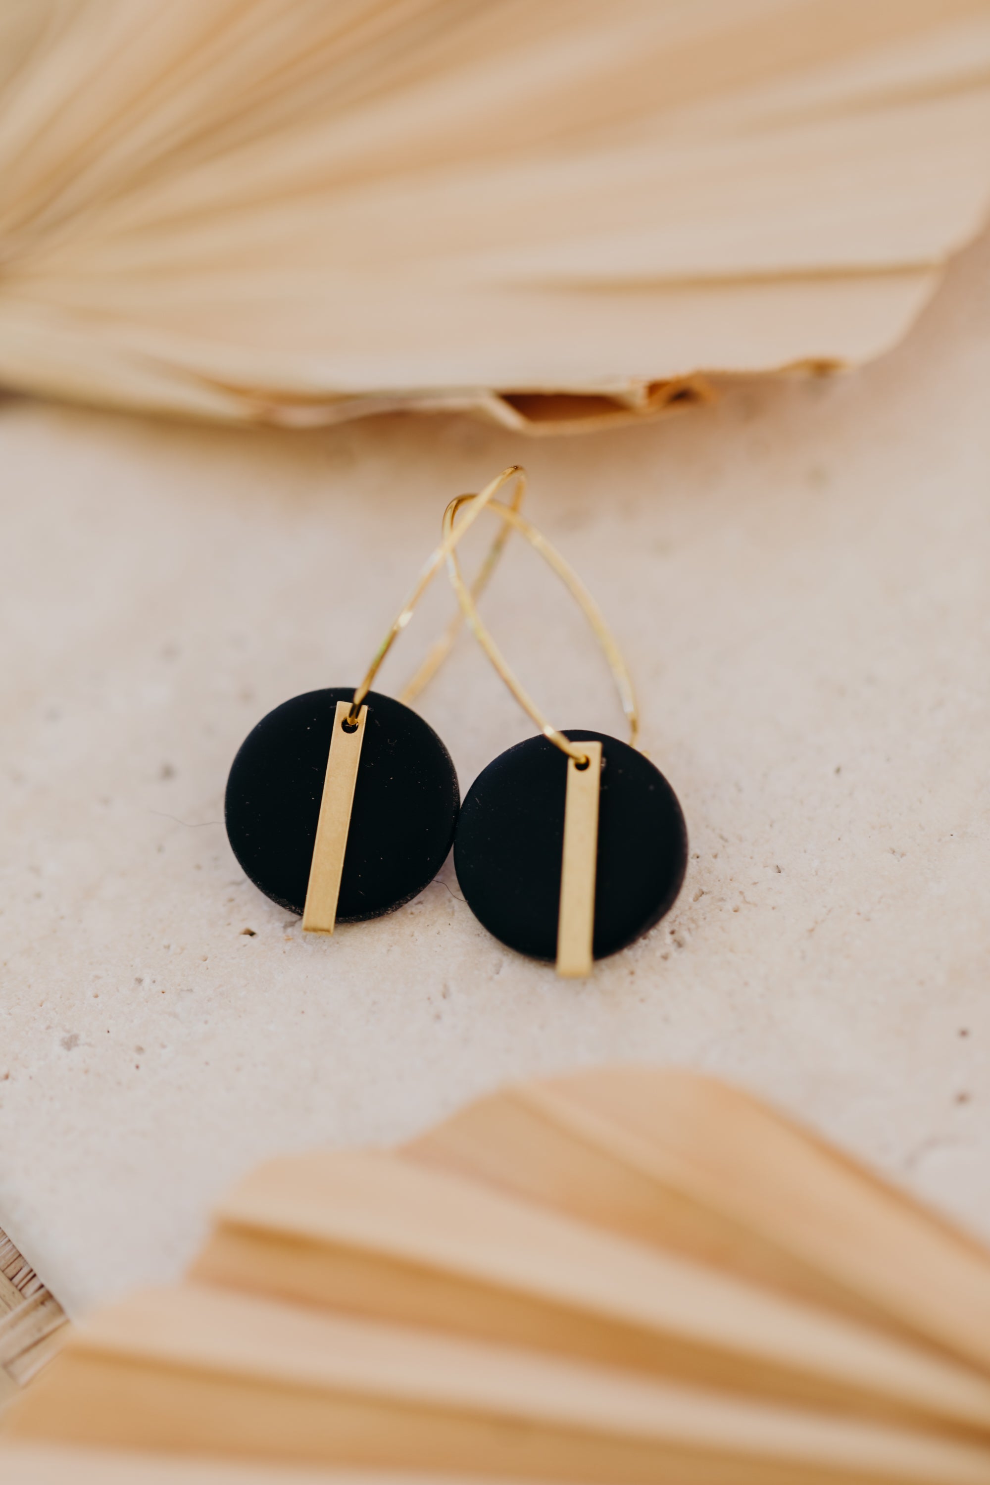
{"label": "matte black disc of the left earring, behind its tilted gold bar", "polygon": [[[353,688],[282,702],[240,744],[227,780],[233,854],[266,897],[301,913],[338,701]],[[460,794],[450,753],[401,701],[370,691],[337,922],[380,918],[433,881]]]}

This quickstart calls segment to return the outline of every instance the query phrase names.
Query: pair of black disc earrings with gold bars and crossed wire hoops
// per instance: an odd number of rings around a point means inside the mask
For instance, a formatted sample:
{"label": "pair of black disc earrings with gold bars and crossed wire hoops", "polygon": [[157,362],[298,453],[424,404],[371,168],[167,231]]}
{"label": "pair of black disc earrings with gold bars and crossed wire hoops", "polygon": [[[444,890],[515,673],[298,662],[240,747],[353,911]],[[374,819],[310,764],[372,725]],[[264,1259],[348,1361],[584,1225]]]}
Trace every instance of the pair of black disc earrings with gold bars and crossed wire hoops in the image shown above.
{"label": "pair of black disc earrings with gold bars and crossed wire hoops", "polygon": [[[496,499],[515,481],[509,502]],[[637,748],[638,710],[622,653],[577,575],[521,514],[525,474],[514,465],[444,512],[442,541],[378,646],[356,691],[307,692],[276,707],[242,744],[227,781],[230,845],[251,881],[303,928],[332,933],[393,912],[436,875],[453,845],[465,898],[494,937],[560,974],[583,977],[672,906],[687,864],[674,790]],[[457,546],[488,509],[500,520],[471,588]],[[568,588],[612,670],[629,742],[558,731],[509,668],[476,600],[512,532]],[[459,612],[399,699],[373,680],[442,566]],[[444,662],[466,621],[494,670],[540,731],[502,753],[463,806],[450,753],[408,702]]]}

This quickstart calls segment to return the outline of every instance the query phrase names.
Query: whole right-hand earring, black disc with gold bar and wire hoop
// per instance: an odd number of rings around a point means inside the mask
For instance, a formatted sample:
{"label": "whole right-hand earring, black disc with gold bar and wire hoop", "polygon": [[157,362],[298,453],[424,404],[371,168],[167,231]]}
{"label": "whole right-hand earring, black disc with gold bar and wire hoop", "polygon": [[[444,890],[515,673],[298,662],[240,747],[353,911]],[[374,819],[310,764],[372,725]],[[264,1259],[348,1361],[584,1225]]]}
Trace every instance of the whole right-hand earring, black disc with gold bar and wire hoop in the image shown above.
{"label": "whole right-hand earring, black disc with gold bar and wire hoop", "polygon": [[[451,502],[444,532],[465,500]],[[677,796],[635,747],[638,710],[625,661],[573,569],[518,509],[490,508],[534,546],[588,618],[629,722],[629,742],[554,728],[509,670],[481,622],[451,549],[450,581],[475,639],[543,734],[508,748],[462,803],[454,867],[468,906],[511,949],[585,977],[592,961],[626,947],[672,907],[687,869]]]}

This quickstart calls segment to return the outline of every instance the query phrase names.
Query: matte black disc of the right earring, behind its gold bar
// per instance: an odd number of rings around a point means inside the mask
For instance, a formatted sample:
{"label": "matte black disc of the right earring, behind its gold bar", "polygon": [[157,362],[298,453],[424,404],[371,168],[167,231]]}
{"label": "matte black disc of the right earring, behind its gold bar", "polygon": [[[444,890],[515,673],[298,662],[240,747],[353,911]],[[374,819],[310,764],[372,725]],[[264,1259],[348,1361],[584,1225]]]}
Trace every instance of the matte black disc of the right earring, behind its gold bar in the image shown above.
{"label": "matte black disc of the right earring, behind its gold bar", "polygon": [[[677,794],[643,753],[601,732],[594,956],[625,949],[674,906],[687,869]],[[567,757],[548,738],[502,753],[473,781],[454,839],[457,881],[488,933],[533,959],[557,958]]]}

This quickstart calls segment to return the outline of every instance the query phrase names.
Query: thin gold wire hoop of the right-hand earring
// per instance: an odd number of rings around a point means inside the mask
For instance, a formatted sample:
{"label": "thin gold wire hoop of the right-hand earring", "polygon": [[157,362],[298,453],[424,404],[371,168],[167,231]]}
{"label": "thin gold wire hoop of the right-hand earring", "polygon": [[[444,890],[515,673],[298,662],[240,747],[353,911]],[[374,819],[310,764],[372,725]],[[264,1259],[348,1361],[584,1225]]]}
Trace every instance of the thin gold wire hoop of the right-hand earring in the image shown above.
{"label": "thin gold wire hoop of the right-hand earring", "polygon": [[[622,650],[616,644],[614,636],[612,634],[612,630],[606,622],[606,616],[595,603],[595,600],[592,598],[592,595],[588,593],[588,588],[583,585],[583,582],[580,581],[574,569],[570,566],[570,563],[566,561],[564,557],[561,557],[561,554],[557,551],[555,546],[551,546],[551,544],[546,541],[542,532],[539,532],[536,526],[527,521],[525,517],[519,515],[518,509],[515,509],[514,506],[503,505],[502,500],[493,500],[491,495],[488,493],[488,489],[485,487],[485,490],[482,490],[479,496],[459,495],[456,500],[450,502],[450,505],[444,511],[445,541],[450,539],[450,535],[453,532],[460,529],[459,526],[454,524],[460,506],[465,505],[465,502],[468,500],[481,500],[482,497],[485,505],[494,515],[500,517],[503,523],[514,526],[515,530],[518,530],[522,536],[525,536],[525,539],[540,554],[540,557],[543,557],[543,560],[549,563],[549,566],[554,569],[557,576],[564,582],[566,588],[570,591],[571,597],[579,604],[580,610],[583,612],[585,618],[588,619],[588,624],[594,631],[595,639],[601,644],[606,661],[609,662],[609,670],[612,671],[612,677],[616,683],[616,689],[619,692],[619,701],[622,702],[622,710],[625,711],[626,720],[629,723],[629,744],[632,747],[637,747],[637,740],[640,735],[640,708],[635,699],[632,677],[629,676],[629,670],[622,656]],[[566,738],[563,732],[558,732],[558,729],[543,716],[543,713],[536,705],[528,692],[519,685],[511,667],[506,664],[502,650],[499,649],[491,634],[481,621],[481,615],[478,613],[473,597],[465,584],[460,570],[460,563],[457,561],[457,552],[454,551],[453,545],[447,557],[447,573],[450,576],[451,587],[457,594],[457,603],[460,604],[462,613],[465,615],[468,624],[471,625],[475,639],[478,640],[485,655],[491,661],[494,670],[505,682],[505,685],[509,688],[509,691],[519,702],[522,710],[533,719],[533,722],[540,729],[543,737],[549,738],[551,742],[561,750],[561,753],[567,753],[567,756],[573,757],[576,763],[585,766],[588,763],[588,757],[585,753],[582,753],[580,742],[571,742],[570,738]]]}

